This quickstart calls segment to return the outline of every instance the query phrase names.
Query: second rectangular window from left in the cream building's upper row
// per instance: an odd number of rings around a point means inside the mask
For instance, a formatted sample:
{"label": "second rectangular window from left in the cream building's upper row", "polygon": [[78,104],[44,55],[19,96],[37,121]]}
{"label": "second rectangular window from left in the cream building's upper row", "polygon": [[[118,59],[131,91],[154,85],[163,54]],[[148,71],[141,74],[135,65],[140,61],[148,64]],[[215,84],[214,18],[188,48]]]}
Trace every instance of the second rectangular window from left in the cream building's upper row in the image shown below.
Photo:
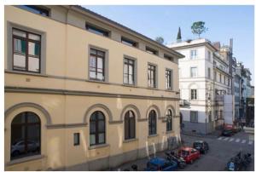
{"label": "second rectangular window from left in the cream building's upper row", "polygon": [[99,81],[105,80],[104,64],[105,64],[105,52],[90,49],[90,79]]}

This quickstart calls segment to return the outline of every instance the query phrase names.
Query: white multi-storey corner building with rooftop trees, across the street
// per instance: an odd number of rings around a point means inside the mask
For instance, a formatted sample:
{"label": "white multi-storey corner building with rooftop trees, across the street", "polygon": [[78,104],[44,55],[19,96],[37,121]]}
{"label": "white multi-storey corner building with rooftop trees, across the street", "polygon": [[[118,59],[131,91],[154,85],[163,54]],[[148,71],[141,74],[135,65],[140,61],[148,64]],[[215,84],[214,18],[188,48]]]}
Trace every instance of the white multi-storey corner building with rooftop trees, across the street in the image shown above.
{"label": "white multi-storey corner building with rooftop trees, across the street", "polygon": [[223,126],[225,116],[233,121],[229,49],[207,39],[168,47],[185,56],[178,62],[183,131],[208,134]]}

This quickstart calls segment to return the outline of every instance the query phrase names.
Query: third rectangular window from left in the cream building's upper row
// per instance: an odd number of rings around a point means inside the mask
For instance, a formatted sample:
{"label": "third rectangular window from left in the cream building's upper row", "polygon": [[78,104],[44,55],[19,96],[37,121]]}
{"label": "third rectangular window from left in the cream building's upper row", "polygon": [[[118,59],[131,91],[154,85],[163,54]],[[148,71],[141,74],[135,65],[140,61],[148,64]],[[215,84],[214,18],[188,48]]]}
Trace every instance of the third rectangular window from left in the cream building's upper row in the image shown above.
{"label": "third rectangular window from left in the cream building's upper row", "polygon": [[135,61],[125,58],[124,60],[124,83],[134,84],[134,64]]}

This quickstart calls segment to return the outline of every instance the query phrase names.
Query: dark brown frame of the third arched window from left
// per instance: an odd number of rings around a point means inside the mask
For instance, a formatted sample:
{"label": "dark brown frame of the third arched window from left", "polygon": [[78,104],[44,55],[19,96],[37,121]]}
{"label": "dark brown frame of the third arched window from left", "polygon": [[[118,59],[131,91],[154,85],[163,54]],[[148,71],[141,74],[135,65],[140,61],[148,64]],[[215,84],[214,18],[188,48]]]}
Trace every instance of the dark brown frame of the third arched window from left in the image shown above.
{"label": "dark brown frame of the third arched window from left", "polygon": [[[132,114],[132,117],[130,117],[130,112],[131,112],[131,114]],[[126,116],[129,116],[128,118],[126,118]],[[127,122],[126,122],[126,120],[128,120]],[[134,129],[132,130],[131,129],[131,125],[132,125],[132,120],[133,120],[133,123],[134,123]],[[133,111],[131,111],[131,110],[129,110],[129,111],[127,111],[127,112],[125,112],[125,123],[124,123],[124,127],[125,127],[125,129],[124,129],[124,132],[125,132],[125,140],[131,140],[131,139],[135,139],[136,138],[136,118],[135,118],[135,113],[133,112]],[[128,125],[126,125],[126,123],[128,124]],[[126,135],[126,131],[127,131],[127,135]],[[133,131],[133,137],[132,137],[132,131]]]}

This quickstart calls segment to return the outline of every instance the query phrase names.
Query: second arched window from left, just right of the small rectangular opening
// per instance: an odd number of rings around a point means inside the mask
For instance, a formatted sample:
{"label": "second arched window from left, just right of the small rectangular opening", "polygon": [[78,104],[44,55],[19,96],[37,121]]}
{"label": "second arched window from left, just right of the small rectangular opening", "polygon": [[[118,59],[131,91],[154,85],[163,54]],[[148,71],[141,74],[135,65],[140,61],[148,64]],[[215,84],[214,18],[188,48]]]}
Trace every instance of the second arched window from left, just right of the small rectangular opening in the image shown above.
{"label": "second arched window from left, just right of the small rectangular opening", "polygon": [[105,116],[102,112],[93,112],[90,116],[90,146],[106,142]]}

